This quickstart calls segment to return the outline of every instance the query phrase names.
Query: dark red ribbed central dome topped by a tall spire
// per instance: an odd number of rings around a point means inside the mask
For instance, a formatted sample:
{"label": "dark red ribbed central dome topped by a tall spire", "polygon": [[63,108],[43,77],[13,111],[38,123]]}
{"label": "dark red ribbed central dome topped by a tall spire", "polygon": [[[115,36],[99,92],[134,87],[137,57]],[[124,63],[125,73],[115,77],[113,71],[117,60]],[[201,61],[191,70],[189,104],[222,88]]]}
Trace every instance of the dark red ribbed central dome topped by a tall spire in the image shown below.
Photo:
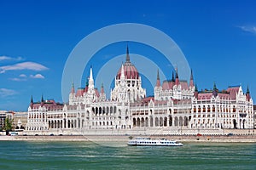
{"label": "dark red ribbed central dome topped by a tall spire", "polygon": [[[126,49],[126,61],[124,64],[124,71],[125,71],[125,79],[138,79],[139,78],[139,73],[137,71],[137,68],[130,62],[128,46]],[[121,72],[122,72],[122,66],[119,68],[116,79],[120,79]]]}

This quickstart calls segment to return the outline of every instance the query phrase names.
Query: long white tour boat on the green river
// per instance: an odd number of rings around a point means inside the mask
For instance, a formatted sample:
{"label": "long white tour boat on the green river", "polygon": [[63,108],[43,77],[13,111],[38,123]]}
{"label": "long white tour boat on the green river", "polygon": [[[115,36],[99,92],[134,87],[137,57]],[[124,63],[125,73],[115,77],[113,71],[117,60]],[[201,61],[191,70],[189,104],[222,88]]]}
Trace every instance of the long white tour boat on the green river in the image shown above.
{"label": "long white tour boat on the green river", "polygon": [[129,146],[183,146],[182,143],[168,139],[136,138],[127,143]]}

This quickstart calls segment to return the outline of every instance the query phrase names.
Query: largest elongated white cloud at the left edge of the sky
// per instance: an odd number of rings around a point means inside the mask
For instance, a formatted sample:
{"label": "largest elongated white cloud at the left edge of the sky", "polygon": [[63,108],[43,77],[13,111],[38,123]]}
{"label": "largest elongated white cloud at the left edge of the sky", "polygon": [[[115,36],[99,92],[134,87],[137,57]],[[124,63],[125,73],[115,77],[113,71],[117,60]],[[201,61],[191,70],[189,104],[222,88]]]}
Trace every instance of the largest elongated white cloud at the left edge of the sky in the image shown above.
{"label": "largest elongated white cloud at the left edge of the sky", "polygon": [[44,65],[40,65],[34,62],[23,62],[15,65],[4,65],[0,67],[0,73],[4,73],[5,71],[21,71],[21,70],[32,70],[32,71],[44,71],[49,68]]}

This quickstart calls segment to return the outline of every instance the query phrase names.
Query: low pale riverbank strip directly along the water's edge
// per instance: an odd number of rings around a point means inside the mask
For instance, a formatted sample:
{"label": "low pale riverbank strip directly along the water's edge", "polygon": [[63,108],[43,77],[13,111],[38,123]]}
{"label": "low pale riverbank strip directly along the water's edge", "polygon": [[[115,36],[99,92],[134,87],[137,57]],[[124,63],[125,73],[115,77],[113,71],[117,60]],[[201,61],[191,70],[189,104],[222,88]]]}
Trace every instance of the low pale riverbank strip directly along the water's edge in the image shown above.
{"label": "low pale riverbank strip directly along the water's edge", "polygon": [[[138,137],[138,136],[133,136]],[[148,137],[148,136],[141,136]],[[247,142],[247,143],[256,143],[256,135],[233,135],[233,136],[194,136],[194,135],[171,135],[171,136],[149,136],[154,139],[171,139],[177,140],[180,142]],[[8,140],[8,141],[88,141],[88,142],[127,142],[129,140],[129,136],[125,135],[70,135],[70,136],[0,136],[0,140]]]}

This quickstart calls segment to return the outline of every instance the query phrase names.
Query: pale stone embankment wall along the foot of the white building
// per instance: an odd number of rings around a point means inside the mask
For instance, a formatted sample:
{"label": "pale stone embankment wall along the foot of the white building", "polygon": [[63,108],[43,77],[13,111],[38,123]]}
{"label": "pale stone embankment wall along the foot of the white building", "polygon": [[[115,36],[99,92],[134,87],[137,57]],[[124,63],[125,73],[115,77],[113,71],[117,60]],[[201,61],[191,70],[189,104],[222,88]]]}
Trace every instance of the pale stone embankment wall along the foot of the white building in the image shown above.
{"label": "pale stone embankment wall along the foot of the white building", "polygon": [[[254,132],[255,130],[255,132]],[[57,129],[49,131],[24,131],[20,135],[253,135],[256,129],[189,129],[171,127],[135,127],[133,129]]]}

